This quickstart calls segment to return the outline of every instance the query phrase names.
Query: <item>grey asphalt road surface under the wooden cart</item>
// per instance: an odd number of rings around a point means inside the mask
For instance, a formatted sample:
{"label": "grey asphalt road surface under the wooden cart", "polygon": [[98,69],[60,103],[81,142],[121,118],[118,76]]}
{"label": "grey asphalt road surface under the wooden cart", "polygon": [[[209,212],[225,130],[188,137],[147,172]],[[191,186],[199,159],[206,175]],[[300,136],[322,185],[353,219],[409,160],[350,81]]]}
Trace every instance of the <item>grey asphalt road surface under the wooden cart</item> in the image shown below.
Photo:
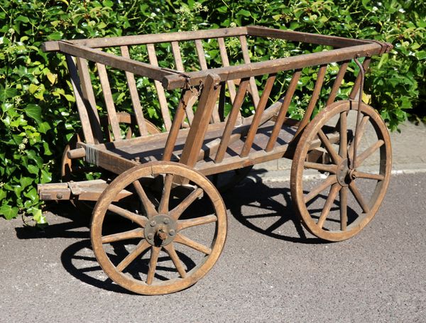
{"label": "grey asphalt road surface under the wooden cart", "polygon": [[44,232],[0,221],[0,322],[426,322],[426,174],[395,175],[348,241],[302,229],[288,182],[225,195],[224,252],[197,284],[133,295],[94,261],[88,220],[62,204]]}

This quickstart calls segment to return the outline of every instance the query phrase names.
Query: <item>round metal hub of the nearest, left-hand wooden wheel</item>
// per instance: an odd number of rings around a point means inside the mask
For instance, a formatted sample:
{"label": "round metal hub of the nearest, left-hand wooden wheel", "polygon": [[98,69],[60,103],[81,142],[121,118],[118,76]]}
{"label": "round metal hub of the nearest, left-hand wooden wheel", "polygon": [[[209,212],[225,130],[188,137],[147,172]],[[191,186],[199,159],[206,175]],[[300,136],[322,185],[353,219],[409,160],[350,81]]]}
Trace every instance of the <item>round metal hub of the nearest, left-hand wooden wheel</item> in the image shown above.
{"label": "round metal hub of the nearest, left-hand wooden wheel", "polygon": [[175,239],[176,221],[168,215],[152,217],[143,230],[145,239],[153,246],[165,246]]}

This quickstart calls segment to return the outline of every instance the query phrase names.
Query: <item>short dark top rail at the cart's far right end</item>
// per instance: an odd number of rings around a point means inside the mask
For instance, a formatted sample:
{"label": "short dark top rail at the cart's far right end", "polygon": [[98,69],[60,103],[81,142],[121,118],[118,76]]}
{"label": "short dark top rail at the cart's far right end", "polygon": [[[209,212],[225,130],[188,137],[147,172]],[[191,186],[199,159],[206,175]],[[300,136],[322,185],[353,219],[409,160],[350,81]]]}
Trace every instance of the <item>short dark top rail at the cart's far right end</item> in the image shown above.
{"label": "short dark top rail at the cart's far right end", "polygon": [[314,33],[301,33],[299,31],[282,31],[278,29],[271,29],[261,26],[248,26],[247,31],[249,35],[258,37],[271,37],[280,38],[290,41],[298,41],[301,43],[311,43],[317,45],[328,45],[336,48],[364,45],[371,43],[368,40],[350,39],[337,36],[320,35]]}

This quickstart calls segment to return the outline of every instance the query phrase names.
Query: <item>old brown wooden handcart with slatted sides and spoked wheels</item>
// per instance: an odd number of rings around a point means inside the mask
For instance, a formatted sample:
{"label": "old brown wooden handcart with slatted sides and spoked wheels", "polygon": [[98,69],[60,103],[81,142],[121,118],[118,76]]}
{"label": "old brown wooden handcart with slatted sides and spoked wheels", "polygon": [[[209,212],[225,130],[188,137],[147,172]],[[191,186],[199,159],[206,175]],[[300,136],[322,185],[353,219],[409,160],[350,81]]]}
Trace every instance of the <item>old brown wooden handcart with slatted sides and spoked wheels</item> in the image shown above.
{"label": "old brown wooden handcart with slatted sides and spoked wheels", "polygon": [[[251,62],[248,40],[256,44],[261,38],[328,50]],[[230,65],[227,42],[239,46],[241,64]],[[206,59],[205,45],[217,45],[222,66]],[[361,102],[361,94],[371,56],[387,53],[392,48],[388,43],[248,26],[43,46],[65,54],[82,123],[82,131],[65,149],[62,175],[70,178],[82,170],[84,160],[102,177],[39,185],[39,195],[97,202],[91,227],[94,254],[109,278],[128,290],[176,292],[212,268],[225,242],[226,207],[209,178],[225,174],[225,186],[231,185],[256,163],[293,159],[295,211],[308,231],[329,241],[357,234],[383,200],[391,143],[386,125]],[[170,50],[174,62],[160,62],[155,47]],[[198,62],[182,55],[184,47],[185,53],[194,50]],[[143,48],[149,62],[138,60],[142,52],[135,48]],[[192,64],[186,70],[185,60]],[[354,63],[359,73],[345,81]],[[194,65],[200,68],[194,70]],[[310,99],[297,121],[290,119],[288,109],[297,102],[294,94],[305,68],[317,76],[312,88],[302,89]],[[114,93],[110,82],[119,82],[120,73],[131,99],[128,112],[119,111],[124,94]],[[333,82],[326,84],[327,73]],[[289,80],[285,95],[273,99],[274,82],[283,75]],[[353,82],[349,99],[335,102],[342,82]],[[148,121],[150,102],[141,102],[141,91],[156,95],[163,131]],[[324,93],[327,99],[317,109]],[[247,97],[255,109],[244,117]],[[379,166],[374,170],[368,165]],[[304,181],[305,175],[317,175],[317,181]]]}

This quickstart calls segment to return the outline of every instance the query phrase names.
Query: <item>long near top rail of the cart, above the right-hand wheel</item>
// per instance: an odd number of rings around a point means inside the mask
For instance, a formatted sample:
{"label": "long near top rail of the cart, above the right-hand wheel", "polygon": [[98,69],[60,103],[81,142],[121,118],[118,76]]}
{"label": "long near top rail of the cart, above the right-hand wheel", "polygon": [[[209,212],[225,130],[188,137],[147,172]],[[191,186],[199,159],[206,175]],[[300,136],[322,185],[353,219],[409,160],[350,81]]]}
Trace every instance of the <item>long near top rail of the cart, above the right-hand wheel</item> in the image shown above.
{"label": "long near top rail of the cart, above the right-hand wheel", "polygon": [[[302,54],[289,58],[278,58],[265,62],[253,62],[251,64],[234,65],[229,67],[212,68],[208,71],[187,72],[190,77],[189,85],[197,86],[210,72],[219,75],[221,82],[228,80],[240,80],[265,74],[273,74],[287,70],[299,70],[303,67],[342,62],[356,57],[370,57],[381,52],[378,43],[367,43],[346,48],[338,48],[318,53]],[[163,86],[166,89],[182,88],[186,84],[185,77],[170,73],[164,77]]]}

